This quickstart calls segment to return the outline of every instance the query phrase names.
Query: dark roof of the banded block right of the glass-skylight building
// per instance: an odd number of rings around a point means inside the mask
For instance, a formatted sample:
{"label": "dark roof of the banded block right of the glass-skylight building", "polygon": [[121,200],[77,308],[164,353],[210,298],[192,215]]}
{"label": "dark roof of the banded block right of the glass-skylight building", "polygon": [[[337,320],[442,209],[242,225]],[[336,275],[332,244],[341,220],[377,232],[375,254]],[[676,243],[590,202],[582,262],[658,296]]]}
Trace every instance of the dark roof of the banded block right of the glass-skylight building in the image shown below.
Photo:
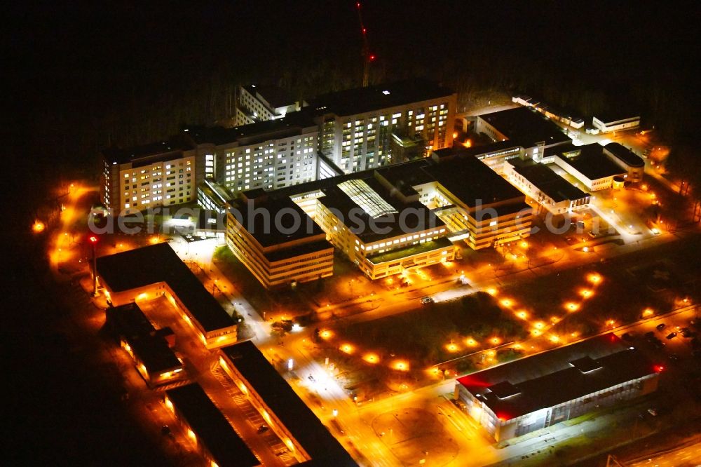
{"label": "dark roof of the banded block right of the glass-skylight building", "polygon": [[501,201],[524,201],[525,195],[474,156],[449,158],[424,169],[469,208]]}

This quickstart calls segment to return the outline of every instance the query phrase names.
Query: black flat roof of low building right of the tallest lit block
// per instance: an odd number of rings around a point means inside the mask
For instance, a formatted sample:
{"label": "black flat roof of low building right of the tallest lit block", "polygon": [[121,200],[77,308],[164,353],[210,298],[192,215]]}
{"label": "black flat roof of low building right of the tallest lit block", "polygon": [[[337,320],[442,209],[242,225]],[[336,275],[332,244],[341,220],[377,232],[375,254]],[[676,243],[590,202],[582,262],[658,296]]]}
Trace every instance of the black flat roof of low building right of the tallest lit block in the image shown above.
{"label": "black flat roof of low building right of the tallest lit block", "polygon": [[512,144],[533,147],[538,142],[545,146],[571,142],[571,138],[562,133],[559,126],[552,123],[528,107],[517,107],[478,117],[503,133]]}

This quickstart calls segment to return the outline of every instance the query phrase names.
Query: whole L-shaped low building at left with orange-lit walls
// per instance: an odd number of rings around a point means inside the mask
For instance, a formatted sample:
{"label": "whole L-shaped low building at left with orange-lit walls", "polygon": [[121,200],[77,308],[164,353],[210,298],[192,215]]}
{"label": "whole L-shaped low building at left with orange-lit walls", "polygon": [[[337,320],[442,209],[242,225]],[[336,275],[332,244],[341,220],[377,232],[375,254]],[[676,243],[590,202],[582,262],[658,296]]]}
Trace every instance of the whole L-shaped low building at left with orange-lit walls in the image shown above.
{"label": "whole L-shaped low building at left with orange-lit walls", "polygon": [[166,297],[205,347],[236,342],[237,323],[168,243],[97,258],[97,279],[112,306]]}

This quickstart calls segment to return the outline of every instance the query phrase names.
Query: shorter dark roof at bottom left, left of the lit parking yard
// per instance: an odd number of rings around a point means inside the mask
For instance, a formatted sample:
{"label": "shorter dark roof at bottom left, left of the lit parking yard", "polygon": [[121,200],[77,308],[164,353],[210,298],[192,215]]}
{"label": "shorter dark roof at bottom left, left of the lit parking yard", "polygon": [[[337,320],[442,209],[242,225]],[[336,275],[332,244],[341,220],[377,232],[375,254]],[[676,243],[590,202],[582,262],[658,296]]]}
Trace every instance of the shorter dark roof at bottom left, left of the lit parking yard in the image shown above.
{"label": "shorter dark roof at bottom left, left of the lit parking yard", "polygon": [[165,393],[220,467],[261,465],[199,384],[168,389]]}

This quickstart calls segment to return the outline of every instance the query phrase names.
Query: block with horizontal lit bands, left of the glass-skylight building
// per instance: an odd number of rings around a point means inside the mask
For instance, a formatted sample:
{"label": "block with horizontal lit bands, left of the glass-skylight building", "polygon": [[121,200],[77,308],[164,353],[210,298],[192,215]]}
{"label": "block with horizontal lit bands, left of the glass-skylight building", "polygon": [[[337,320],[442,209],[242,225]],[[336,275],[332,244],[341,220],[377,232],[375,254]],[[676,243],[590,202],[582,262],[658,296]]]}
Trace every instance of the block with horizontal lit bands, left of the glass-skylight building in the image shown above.
{"label": "block with horizontal lit bands, left of the glass-skylight building", "polygon": [[334,248],[289,197],[242,194],[227,213],[226,244],[266,288],[334,273]]}

